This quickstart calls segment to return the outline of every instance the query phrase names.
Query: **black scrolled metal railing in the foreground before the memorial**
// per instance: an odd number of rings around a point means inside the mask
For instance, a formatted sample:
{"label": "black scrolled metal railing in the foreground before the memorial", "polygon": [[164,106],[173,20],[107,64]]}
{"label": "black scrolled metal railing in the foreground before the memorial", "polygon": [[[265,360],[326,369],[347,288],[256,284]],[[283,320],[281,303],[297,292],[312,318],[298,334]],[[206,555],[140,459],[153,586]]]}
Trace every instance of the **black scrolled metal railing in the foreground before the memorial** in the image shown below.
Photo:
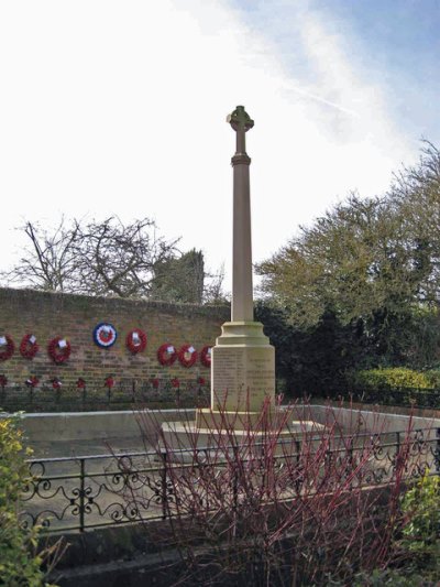
{"label": "black scrolled metal railing in the foreground before the memorial", "polygon": [[[307,466],[305,455],[310,458],[310,447],[318,446],[321,439],[311,437],[304,441],[297,437],[294,441],[278,441],[280,449],[274,454],[277,466],[282,468],[288,465],[297,472],[304,470]],[[338,479],[341,476],[350,477],[350,488],[389,483],[404,445],[407,448],[405,477],[417,478],[427,470],[440,475],[440,428],[360,434],[346,441],[341,437],[326,441],[318,475],[326,476],[328,467],[340,464]],[[304,447],[302,443],[306,442],[307,447]],[[283,443],[289,443],[290,448],[283,450]],[[322,443],[319,450],[321,448]],[[238,447],[230,449],[237,452]],[[264,445],[261,448],[263,450]],[[170,504],[176,501],[176,471],[179,475],[189,467],[194,476],[191,483],[197,485],[197,471],[207,466],[210,454],[212,447],[172,453],[152,450],[30,459],[30,478],[21,500],[22,524],[42,524],[47,532],[82,532],[92,528],[166,519],[175,514]],[[316,457],[311,456],[314,460]],[[228,461],[230,459],[216,457],[212,470],[227,467]],[[362,467],[360,463],[363,463]],[[239,475],[240,467],[234,470],[231,487],[238,499],[240,478],[235,474]],[[261,472],[265,474],[264,459]],[[301,479],[301,475],[296,474],[285,478],[284,499],[298,497],[304,483]]]}

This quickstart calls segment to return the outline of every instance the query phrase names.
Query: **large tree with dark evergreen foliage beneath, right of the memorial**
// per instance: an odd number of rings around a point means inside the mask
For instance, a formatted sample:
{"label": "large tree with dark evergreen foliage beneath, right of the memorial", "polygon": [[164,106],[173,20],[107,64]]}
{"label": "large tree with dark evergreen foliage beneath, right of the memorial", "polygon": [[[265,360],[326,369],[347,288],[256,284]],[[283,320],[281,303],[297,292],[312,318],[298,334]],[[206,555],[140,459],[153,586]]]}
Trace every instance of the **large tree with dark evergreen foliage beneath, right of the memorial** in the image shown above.
{"label": "large tree with dark evergreen foliage beneath, right of the memorial", "polygon": [[[384,197],[351,194],[310,227],[300,227],[257,272],[260,308],[268,308],[263,314],[270,323],[271,316],[288,323],[279,372],[289,387],[320,388],[326,394],[328,385],[343,385],[353,368],[435,368],[440,152],[425,143],[419,163],[405,167]],[[267,325],[267,317],[263,322]],[[271,326],[266,330],[279,352],[280,337]]]}

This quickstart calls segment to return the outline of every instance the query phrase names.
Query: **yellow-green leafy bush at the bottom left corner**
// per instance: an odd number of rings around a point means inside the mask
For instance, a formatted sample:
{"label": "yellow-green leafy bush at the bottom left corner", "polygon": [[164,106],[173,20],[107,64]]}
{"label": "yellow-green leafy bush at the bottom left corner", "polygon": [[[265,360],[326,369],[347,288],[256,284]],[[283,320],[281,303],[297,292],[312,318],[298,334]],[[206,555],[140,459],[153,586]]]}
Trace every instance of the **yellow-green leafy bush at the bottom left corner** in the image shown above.
{"label": "yellow-green leafy bush at the bottom left corner", "polygon": [[19,522],[19,498],[29,476],[16,418],[0,418],[0,585],[41,587],[43,555],[36,554],[38,529]]}

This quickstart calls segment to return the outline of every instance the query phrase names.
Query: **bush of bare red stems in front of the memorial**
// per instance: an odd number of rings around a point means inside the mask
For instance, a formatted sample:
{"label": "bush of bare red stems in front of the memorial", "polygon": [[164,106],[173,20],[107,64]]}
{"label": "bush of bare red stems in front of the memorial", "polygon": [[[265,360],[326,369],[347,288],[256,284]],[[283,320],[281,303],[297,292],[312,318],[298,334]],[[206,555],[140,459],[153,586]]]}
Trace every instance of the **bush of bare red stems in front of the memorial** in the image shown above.
{"label": "bush of bare red stems in front of the memorial", "polygon": [[[362,426],[342,430],[331,407],[326,426],[311,428],[307,406],[278,412],[270,401],[253,424],[221,407],[207,417],[213,418],[207,436],[186,427],[185,418],[179,431],[161,427],[162,418],[147,412],[140,421],[145,434],[156,427],[151,465],[164,464],[160,483],[166,488],[166,523],[145,529],[158,548],[177,545],[173,573],[180,585],[346,586],[360,572],[388,564],[402,526],[402,479],[419,466],[409,457],[409,439],[396,447],[388,472],[377,465],[373,488],[378,445]],[[359,422],[359,413],[350,420]],[[287,434],[292,422],[295,434]],[[123,472],[138,478],[130,464]],[[129,492],[135,511],[146,510],[150,499],[135,488]],[[168,577],[170,569],[162,572]]]}

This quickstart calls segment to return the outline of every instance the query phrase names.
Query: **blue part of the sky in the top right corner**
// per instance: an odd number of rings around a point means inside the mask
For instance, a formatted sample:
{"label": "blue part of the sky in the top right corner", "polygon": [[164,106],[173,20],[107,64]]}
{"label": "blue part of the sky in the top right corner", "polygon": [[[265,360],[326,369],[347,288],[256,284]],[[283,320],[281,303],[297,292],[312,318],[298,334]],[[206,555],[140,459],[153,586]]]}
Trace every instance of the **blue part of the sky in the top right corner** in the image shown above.
{"label": "blue part of the sky in the top right corner", "polygon": [[439,0],[238,1],[244,18],[274,41],[286,67],[307,75],[293,34],[298,6],[324,21],[352,63],[382,86],[409,135],[439,143]]}

